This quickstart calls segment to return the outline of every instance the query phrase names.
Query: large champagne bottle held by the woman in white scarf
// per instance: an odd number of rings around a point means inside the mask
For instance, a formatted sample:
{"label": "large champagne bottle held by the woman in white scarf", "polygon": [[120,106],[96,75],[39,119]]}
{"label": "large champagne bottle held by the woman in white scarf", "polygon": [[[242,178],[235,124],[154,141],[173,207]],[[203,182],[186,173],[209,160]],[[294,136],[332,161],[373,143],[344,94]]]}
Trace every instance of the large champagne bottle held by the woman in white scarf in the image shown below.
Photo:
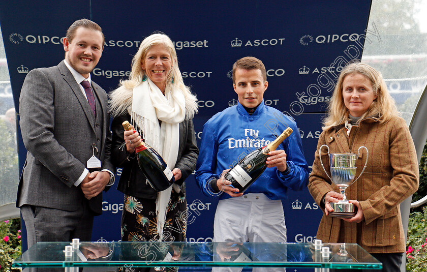
{"label": "large champagne bottle held by the woman in white scarf", "polygon": [[[128,121],[123,122],[121,125],[125,130],[132,130],[132,126]],[[175,182],[172,171],[153,147],[141,141],[135,152],[139,168],[141,168],[151,188],[160,192],[169,188]]]}

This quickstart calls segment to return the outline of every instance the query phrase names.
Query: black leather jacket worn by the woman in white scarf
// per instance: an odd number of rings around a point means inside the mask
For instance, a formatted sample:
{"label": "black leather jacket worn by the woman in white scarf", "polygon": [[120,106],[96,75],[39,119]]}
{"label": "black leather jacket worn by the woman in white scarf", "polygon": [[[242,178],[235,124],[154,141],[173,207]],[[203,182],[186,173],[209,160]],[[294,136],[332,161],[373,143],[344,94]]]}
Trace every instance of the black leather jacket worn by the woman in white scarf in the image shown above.
{"label": "black leather jacket worn by the woman in white scarf", "polygon": [[[113,132],[111,159],[116,167],[123,168],[117,190],[129,196],[156,199],[157,192],[146,183],[145,176],[138,166],[135,153],[129,154],[126,151],[126,146],[120,148],[125,143],[125,130],[121,125],[125,120],[131,122],[131,116],[128,113],[114,117],[111,123],[111,130]],[[193,120],[184,120],[184,122],[179,124],[178,158],[174,167],[181,170],[182,177],[175,180],[175,184],[181,187],[181,192],[184,194],[184,180],[196,168],[198,155],[199,148],[197,148]]]}

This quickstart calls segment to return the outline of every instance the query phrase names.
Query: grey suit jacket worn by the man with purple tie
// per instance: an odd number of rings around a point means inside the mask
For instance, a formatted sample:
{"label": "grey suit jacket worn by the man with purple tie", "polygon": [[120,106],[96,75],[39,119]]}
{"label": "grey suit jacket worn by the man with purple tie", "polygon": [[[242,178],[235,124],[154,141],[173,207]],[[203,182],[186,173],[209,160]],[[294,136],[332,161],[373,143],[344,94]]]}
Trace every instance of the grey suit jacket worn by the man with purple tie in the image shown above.
{"label": "grey suit jacket worn by the man with purple tie", "polygon": [[[64,61],[50,68],[34,69],[25,77],[19,98],[20,127],[28,150],[18,187],[16,205],[24,204],[62,210],[78,210],[84,198],[74,183],[92,157],[92,144],[98,143],[97,157],[102,169],[114,173],[110,161],[111,133],[107,94],[92,81],[101,107],[94,115],[81,89]],[[102,135],[97,135],[102,126]],[[102,212],[102,194],[90,199],[90,208]]]}

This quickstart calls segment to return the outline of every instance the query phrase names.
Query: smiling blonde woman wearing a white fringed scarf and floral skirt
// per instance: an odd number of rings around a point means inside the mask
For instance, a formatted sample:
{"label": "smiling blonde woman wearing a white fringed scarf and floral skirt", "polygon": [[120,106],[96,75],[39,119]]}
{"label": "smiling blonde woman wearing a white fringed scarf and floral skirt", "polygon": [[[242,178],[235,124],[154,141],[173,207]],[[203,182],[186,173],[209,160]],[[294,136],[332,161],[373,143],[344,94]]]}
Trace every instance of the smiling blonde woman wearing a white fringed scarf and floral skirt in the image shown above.
{"label": "smiling blonde woman wearing a white fringed scarf and floral skirt", "polygon": [[[110,94],[113,163],[123,167],[118,190],[125,194],[123,241],[184,241],[187,229],[185,179],[196,167],[199,150],[193,127],[196,97],[182,81],[176,51],[168,36],[156,33],[141,42],[128,80]],[[128,120],[133,131],[121,125]],[[157,150],[175,183],[156,192],[135,157],[143,140]]]}

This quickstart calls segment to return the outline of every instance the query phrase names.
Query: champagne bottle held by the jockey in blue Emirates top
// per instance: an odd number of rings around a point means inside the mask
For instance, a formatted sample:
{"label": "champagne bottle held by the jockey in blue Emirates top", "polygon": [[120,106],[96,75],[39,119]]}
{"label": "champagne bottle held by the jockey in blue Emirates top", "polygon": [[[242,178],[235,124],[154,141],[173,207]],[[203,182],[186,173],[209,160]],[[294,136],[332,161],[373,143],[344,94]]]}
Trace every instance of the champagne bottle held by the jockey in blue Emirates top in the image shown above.
{"label": "champagne bottle held by the jockey in blue Emirates top", "polygon": [[225,174],[224,178],[229,180],[234,188],[239,189],[239,193],[245,192],[267,168],[265,162],[267,161],[268,152],[276,150],[279,144],[291,133],[292,129],[287,128],[276,140],[246,155]]}

